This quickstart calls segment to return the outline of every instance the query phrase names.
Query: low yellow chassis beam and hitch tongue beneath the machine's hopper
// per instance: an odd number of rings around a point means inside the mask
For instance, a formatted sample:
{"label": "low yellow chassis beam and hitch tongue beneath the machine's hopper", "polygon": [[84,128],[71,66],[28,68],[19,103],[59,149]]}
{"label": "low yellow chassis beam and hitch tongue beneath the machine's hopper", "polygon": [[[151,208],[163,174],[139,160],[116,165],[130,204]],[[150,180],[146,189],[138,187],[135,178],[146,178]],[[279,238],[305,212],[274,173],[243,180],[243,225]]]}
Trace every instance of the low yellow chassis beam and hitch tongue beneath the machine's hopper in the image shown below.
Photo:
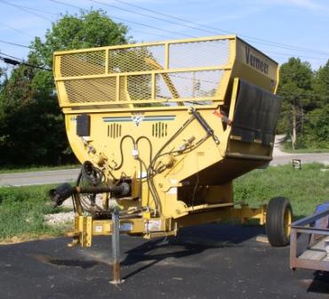
{"label": "low yellow chassis beam and hitch tongue beneath the machine's hopper", "polygon": [[[247,220],[256,219],[262,225],[266,221],[267,206],[250,208],[241,206],[226,206],[221,209],[213,209],[206,213],[189,214],[180,219],[171,218],[130,218],[120,220],[121,233],[129,235],[140,235],[143,238],[159,238],[176,236],[181,228],[195,225],[196,223],[222,222],[231,219],[245,223]],[[111,220],[95,220],[91,216],[76,215],[75,230],[68,233],[73,241],[68,246],[92,246],[92,237],[108,236],[112,233]],[[148,222],[159,222],[156,230],[148,230]]]}

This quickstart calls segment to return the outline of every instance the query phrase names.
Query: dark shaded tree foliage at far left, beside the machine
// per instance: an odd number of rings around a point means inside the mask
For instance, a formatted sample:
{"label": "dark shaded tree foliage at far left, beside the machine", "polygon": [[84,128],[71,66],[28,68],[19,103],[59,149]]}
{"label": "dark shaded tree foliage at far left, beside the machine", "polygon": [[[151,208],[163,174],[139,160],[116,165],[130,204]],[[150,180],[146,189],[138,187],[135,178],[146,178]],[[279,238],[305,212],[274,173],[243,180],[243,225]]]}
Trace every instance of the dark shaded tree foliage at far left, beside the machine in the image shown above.
{"label": "dark shaded tree foliage at far left, beside the machine", "polygon": [[0,153],[5,158],[2,164],[62,161],[60,153],[67,144],[60,109],[51,87],[44,80],[37,82],[47,77],[44,71],[20,66],[4,85],[0,95],[0,110],[4,113],[0,125]]}

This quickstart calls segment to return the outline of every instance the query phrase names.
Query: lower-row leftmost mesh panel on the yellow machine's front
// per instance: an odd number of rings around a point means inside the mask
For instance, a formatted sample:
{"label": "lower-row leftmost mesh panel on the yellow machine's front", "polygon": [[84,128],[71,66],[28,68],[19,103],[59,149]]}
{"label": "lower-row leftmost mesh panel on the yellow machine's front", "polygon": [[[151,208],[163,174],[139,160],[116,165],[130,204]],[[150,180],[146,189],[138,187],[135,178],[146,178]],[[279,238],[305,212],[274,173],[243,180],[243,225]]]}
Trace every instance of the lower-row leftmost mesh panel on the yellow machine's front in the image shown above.
{"label": "lower-row leftmost mesh panel on the yellow machine's front", "polygon": [[115,77],[69,80],[64,85],[69,103],[116,100]]}

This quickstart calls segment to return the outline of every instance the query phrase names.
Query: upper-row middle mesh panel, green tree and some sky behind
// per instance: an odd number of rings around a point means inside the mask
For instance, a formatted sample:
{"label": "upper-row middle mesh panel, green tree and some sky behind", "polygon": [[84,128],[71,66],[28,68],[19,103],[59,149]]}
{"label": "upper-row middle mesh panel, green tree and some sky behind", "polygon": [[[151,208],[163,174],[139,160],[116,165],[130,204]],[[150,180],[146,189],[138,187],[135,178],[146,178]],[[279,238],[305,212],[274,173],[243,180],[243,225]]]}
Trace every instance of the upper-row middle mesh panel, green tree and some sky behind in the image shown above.
{"label": "upper-row middle mesh panel, green tree and some sky behind", "polygon": [[108,52],[108,72],[124,73],[164,69],[164,45],[132,47]]}

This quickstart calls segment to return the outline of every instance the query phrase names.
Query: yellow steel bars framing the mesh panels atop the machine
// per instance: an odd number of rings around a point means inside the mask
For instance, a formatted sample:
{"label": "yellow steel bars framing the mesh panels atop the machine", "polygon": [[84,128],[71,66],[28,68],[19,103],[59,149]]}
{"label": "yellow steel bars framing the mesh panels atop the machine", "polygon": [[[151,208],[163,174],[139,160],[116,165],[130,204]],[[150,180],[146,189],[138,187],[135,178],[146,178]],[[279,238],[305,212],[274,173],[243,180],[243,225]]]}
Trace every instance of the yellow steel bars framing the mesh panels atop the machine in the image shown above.
{"label": "yellow steel bars framing the mesh panels atop the machine", "polygon": [[[213,65],[208,65],[208,66],[198,66],[197,68],[170,68],[170,61],[172,60],[172,56],[170,53],[170,47],[173,45],[177,44],[191,44],[191,47],[193,44],[197,43],[203,43],[203,42],[217,42],[217,41],[227,41],[229,43],[228,45],[228,53],[227,53],[227,63],[224,65],[217,64],[215,57],[213,59]],[[242,44],[242,45],[241,45]],[[73,109],[75,107],[78,108],[85,108],[85,109],[92,109],[92,107],[98,106],[98,112],[100,111],[108,111],[108,109],[116,109],[116,110],[124,110],[127,111],[129,109],[138,109],[137,107],[134,107],[134,104],[149,104],[149,103],[168,103],[168,102],[177,102],[181,104],[184,101],[194,101],[194,102],[200,102],[200,101],[213,101],[213,104],[211,105],[205,105],[207,107],[215,108],[219,104],[221,104],[224,101],[225,93],[228,89],[229,85],[229,80],[231,77],[234,77],[235,75],[235,69],[239,72],[240,65],[242,65],[242,61],[245,60],[245,58],[241,57],[243,53],[239,50],[241,46],[244,46],[246,43],[241,41],[240,39],[237,38],[237,36],[212,36],[212,37],[202,37],[202,38],[189,38],[189,39],[181,39],[181,40],[172,40],[172,41],[166,41],[162,43],[142,43],[142,44],[124,44],[124,45],[116,45],[116,46],[108,46],[108,47],[100,47],[100,48],[92,48],[92,49],[87,49],[87,50],[75,50],[75,51],[63,51],[63,52],[57,52],[54,53],[54,77],[55,77],[55,82],[57,86],[57,90],[59,93],[59,100],[60,100],[60,107],[64,109],[65,113],[74,113]],[[164,66],[163,68],[160,68],[161,66],[158,65],[158,63],[149,58],[146,58],[146,63],[148,65],[153,65],[154,69],[150,69],[147,71],[140,71],[140,70],[135,70],[132,69],[131,71],[120,71],[120,72],[113,72],[110,69],[108,69],[108,61],[110,61],[109,58],[109,53],[111,51],[120,51],[120,50],[129,50],[133,51],[133,49],[138,49],[141,47],[147,47],[147,48],[152,48],[155,46],[162,45],[164,46]],[[212,44],[209,44],[209,47],[212,47]],[[77,55],[77,54],[85,54],[88,55],[90,53],[100,53],[104,52],[105,57],[104,57],[104,67],[102,67],[103,71],[101,74],[88,74],[88,75],[79,75],[79,76],[65,76],[62,74],[61,71],[61,60],[65,58],[68,55]],[[242,50],[243,52],[243,50]],[[257,52],[259,55],[262,56],[263,60],[268,61],[269,65],[272,66],[271,69],[277,69],[277,63],[275,61],[271,61],[267,56],[264,54]],[[225,53],[224,53],[225,55]],[[151,61],[151,62],[149,62]],[[168,80],[165,78],[168,78],[170,75],[178,76],[181,73],[186,73],[186,72],[202,72],[202,71],[222,71],[223,76],[221,78],[221,82],[218,82],[218,88],[216,93],[213,96],[191,96],[188,98],[181,97],[179,94],[176,94],[173,96],[171,99],[166,99],[166,100],[158,100],[156,99],[156,94],[155,94],[155,89],[156,89],[156,80],[155,77],[156,75],[162,75],[164,77],[165,84],[171,89],[171,91],[174,91],[175,88],[173,85],[168,84]],[[273,86],[271,86],[271,90],[273,92],[276,91],[277,89],[277,75],[278,73],[275,71],[274,74],[270,76],[270,78],[267,80],[268,83],[266,83],[267,88],[269,88],[269,81],[272,80],[275,82]],[[132,78],[132,77],[139,77],[139,76],[147,76],[149,75],[151,77],[152,81],[152,93],[151,97],[149,99],[140,99],[138,101],[133,101],[133,100],[128,100],[128,101],[123,101],[120,99],[120,82],[121,78]],[[259,80],[257,77],[259,76],[259,72],[255,72],[253,77],[256,80]],[[69,96],[66,91],[66,87],[64,83],[68,82],[75,82],[75,81],[84,81],[84,80],[90,80],[90,79],[98,79],[98,78],[115,78],[116,79],[116,98],[114,101],[92,101],[92,102],[71,102],[69,101]],[[263,78],[262,78],[263,80]],[[124,109],[120,109],[119,107],[116,107],[117,105],[130,105],[129,109],[127,107],[124,107]],[[70,109],[69,109],[70,108]],[[154,107],[143,107],[143,110],[152,110]],[[156,109],[168,109],[168,107],[156,107]],[[185,109],[187,109],[185,107]]]}

